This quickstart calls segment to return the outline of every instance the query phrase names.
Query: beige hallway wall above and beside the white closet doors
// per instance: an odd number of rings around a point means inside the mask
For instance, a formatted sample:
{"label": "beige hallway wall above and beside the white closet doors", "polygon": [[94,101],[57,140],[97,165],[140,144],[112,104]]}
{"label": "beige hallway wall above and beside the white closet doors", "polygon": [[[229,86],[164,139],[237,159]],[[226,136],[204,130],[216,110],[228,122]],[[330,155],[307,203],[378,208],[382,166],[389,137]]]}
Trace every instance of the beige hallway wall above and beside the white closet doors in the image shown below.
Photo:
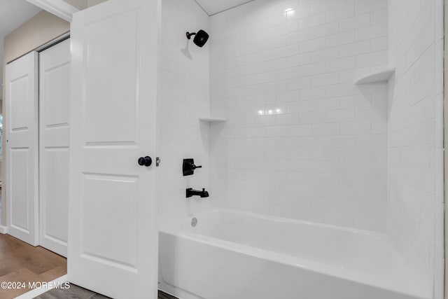
{"label": "beige hallway wall above and beside the white closet doors", "polygon": [[[73,0],[77,1],[77,0]],[[68,1],[67,1],[68,2]],[[25,22],[22,26],[15,29],[6,36],[4,41],[4,57],[3,57],[3,86],[5,86],[5,66],[8,62],[25,55],[32,50],[42,46],[58,36],[70,31],[70,23],[66,22],[55,15],[42,11],[33,18]],[[5,90],[3,88],[3,99],[5,99]],[[5,110],[5,101],[3,101],[2,110]],[[8,119],[3,116],[3,131],[6,132],[8,127]],[[3,148],[5,148],[5,139],[3,138]],[[6,159],[3,151],[3,161]],[[1,163],[1,177],[4,178],[4,163]],[[3,183],[1,190],[1,224],[6,225],[6,186]]]}

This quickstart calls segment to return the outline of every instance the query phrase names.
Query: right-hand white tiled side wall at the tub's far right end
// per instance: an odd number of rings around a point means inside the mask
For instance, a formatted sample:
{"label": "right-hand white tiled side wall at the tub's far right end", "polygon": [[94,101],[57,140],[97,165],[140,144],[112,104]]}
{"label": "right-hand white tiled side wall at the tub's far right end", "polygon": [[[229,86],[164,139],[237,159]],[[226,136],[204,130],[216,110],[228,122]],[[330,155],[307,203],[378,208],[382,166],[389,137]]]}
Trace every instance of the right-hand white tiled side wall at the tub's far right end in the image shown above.
{"label": "right-hand white tiled side wall at the tub's far right end", "polygon": [[387,232],[443,286],[443,1],[389,0]]}

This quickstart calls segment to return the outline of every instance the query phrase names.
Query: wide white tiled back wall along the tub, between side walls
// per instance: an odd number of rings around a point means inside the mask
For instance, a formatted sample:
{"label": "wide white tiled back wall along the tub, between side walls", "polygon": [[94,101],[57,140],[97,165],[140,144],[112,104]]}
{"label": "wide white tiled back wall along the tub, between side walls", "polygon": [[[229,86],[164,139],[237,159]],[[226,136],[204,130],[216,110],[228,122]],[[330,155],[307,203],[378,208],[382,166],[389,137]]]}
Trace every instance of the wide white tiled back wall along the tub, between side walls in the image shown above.
{"label": "wide white tiled back wall along the tub, between side walls", "polygon": [[258,0],[211,17],[212,202],[386,230],[386,0]]}

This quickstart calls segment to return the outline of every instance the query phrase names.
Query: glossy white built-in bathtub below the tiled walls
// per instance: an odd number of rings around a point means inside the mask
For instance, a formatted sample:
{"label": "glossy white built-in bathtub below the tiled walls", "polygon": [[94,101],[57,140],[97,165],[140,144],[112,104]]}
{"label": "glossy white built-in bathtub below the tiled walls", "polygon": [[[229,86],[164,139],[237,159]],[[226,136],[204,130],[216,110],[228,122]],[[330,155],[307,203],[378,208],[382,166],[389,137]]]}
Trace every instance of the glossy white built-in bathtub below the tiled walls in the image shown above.
{"label": "glossy white built-in bathtub below the tiled walls", "polygon": [[160,228],[159,286],[182,299],[430,299],[386,235],[230,210]]}

